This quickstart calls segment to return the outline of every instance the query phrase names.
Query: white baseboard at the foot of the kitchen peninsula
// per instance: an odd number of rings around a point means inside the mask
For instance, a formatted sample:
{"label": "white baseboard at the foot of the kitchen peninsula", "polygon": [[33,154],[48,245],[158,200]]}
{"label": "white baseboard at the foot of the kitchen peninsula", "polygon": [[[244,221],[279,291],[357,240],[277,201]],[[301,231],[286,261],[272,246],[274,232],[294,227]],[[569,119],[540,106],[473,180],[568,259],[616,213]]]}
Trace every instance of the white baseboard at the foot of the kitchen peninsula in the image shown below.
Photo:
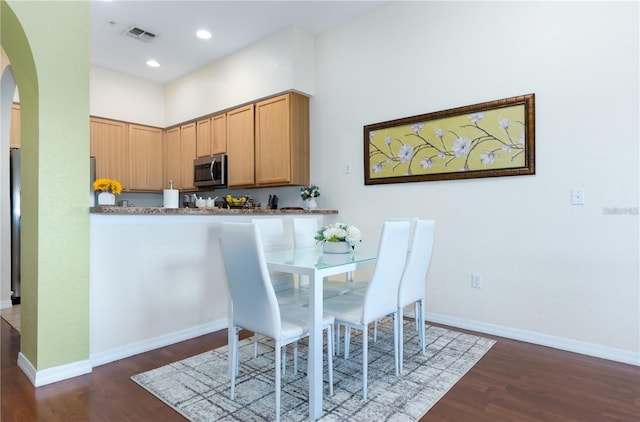
{"label": "white baseboard at the foot of the kitchen peninsula", "polygon": [[214,321],[186,330],[176,331],[159,337],[127,344],[103,352],[91,353],[91,366],[96,367],[119,359],[128,358],[133,355],[148,352],[160,347],[175,344],[181,341],[189,340],[205,334],[213,333],[227,328],[227,320]]}

